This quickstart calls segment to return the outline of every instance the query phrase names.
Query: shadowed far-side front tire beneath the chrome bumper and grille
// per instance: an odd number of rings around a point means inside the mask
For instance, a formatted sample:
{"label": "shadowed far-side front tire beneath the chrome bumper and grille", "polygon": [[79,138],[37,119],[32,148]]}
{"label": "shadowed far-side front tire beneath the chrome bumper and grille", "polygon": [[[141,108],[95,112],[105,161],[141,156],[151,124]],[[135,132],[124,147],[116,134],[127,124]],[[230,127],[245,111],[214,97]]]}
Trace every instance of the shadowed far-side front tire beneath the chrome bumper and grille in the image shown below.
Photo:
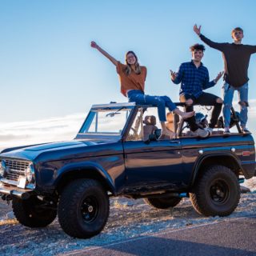
{"label": "shadowed far-side front tire beneath the chrome bumper and grille", "polygon": [[43,227],[54,221],[57,215],[56,209],[45,208],[44,202],[36,197],[22,200],[13,198],[12,208],[14,216],[24,226]]}

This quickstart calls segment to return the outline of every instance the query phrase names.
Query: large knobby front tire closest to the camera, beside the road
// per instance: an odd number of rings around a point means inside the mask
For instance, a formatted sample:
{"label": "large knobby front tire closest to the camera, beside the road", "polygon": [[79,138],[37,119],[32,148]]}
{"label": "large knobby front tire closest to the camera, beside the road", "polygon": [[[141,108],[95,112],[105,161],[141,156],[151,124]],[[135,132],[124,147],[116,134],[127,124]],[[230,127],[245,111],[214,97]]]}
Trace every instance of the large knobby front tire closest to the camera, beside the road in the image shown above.
{"label": "large knobby front tire closest to the camera, beside the road", "polygon": [[58,222],[74,238],[91,238],[106,225],[110,201],[101,184],[93,179],[70,182],[58,203]]}

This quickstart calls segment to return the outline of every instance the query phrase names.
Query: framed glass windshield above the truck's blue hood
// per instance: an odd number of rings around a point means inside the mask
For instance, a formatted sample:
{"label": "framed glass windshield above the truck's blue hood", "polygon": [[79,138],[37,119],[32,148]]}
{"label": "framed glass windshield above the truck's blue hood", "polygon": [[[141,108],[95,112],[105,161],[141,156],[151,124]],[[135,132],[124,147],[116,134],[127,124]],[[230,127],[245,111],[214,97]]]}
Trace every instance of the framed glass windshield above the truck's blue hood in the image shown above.
{"label": "framed glass windshield above the truck's blue hood", "polygon": [[79,134],[121,135],[130,110],[126,107],[90,110]]}

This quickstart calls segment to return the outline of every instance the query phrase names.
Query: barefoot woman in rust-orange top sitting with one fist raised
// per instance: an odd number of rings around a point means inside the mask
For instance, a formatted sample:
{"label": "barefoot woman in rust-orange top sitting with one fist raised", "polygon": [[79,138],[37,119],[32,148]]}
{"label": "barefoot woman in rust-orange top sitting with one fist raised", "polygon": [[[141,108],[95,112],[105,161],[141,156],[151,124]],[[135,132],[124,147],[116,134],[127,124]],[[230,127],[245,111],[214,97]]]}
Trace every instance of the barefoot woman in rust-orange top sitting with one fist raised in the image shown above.
{"label": "barefoot woman in rust-orange top sitting with one fist raised", "polygon": [[166,129],[166,107],[175,114],[179,114],[183,119],[190,118],[194,111],[190,113],[182,112],[175,106],[174,102],[167,96],[150,96],[144,93],[146,81],[146,66],[138,64],[138,58],[133,51],[126,53],[126,64],[118,62],[96,42],[91,42],[90,46],[97,49],[101,54],[110,60],[116,66],[121,83],[121,92],[128,97],[129,102],[136,102],[139,105],[153,105],[158,107],[158,118],[162,126],[162,135],[174,138],[174,132]]}

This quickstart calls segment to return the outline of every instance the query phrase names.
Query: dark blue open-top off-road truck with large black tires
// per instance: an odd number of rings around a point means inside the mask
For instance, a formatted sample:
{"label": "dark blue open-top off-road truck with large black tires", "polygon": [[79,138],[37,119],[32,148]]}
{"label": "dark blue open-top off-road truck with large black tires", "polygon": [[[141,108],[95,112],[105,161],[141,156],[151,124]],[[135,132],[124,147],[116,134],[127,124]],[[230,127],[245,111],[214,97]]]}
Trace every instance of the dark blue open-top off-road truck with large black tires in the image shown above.
{"label": "dark blue open-top off-road truck with large black tires", "polygon": [[12,202],[22,225],[47,226],[58,214],[75,238],[101,232],[110,197],[144,198],[159,209],[189,197],[199,214],[231,214],[239,180],[254,176],[251,134],[237,126],[225,136],[216,127],[210,137],[197,138],[173,116],[166,126],[176,138],[159,138],[155,116],[156,107],[133,102],[94,105],[74,140],[3,150],[2,199]]}

